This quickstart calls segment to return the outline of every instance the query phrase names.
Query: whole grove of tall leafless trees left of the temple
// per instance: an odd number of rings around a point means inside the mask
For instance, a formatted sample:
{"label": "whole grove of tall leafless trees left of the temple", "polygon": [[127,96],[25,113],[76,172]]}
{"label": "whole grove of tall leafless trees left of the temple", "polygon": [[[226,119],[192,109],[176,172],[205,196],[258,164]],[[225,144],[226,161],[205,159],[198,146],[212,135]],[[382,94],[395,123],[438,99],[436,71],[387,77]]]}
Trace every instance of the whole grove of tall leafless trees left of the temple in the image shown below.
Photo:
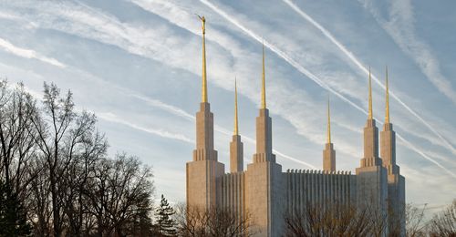
{"label": "whole grove of tall leafless trees left of the temple", "polygon": [[36,236],[136,236],[137,228],[150,229],[150,167],[126,154],[109,158],[96,122],[54,84],[45,83],[38,106],[23,85],[0,81],[0,183],[20,197]]}

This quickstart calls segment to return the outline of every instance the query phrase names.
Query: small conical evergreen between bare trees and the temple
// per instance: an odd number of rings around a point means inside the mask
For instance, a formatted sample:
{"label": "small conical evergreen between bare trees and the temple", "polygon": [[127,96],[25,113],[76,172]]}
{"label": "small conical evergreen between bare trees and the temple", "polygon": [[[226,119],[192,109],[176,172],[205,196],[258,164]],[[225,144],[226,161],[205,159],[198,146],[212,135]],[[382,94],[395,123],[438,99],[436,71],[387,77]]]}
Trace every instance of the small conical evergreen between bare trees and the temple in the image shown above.
{"label": "small conical evergreen between bare trees and the temple", "polygon": [[175,211],[161,194],[160,208],[155,211],[155,231],[159,236],[176,236],[176,222],[172,219]]}

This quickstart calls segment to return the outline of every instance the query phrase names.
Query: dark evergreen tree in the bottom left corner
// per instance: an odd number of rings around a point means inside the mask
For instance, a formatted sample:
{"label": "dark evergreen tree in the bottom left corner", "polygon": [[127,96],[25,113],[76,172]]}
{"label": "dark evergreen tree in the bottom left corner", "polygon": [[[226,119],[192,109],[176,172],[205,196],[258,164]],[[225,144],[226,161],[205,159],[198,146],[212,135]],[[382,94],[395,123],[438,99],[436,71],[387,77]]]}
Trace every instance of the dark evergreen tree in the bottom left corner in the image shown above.
{"label": "dark evergreen tree in the bottom left corner", "polygon": [[31,229],[16,193],[0,180],[0,236],[26,236]]}

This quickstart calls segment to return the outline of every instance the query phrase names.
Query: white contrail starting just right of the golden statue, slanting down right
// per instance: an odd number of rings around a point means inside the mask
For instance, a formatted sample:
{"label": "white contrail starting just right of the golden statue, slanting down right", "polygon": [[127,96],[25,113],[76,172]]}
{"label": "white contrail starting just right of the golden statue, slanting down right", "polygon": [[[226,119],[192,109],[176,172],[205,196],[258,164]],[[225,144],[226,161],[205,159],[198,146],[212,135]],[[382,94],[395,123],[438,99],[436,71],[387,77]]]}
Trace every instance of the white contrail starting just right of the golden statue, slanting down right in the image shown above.
{"label": "white contrail starting just right of the golden statue, slanting down right", "polygon": [[[314,74],[312,74],[310,71],[308,71],[305,67],[302,67],[299,63],[297,63],[295,61],[295,59],[291,58],[291,57],[288,57],[285,52],[283,52],[282,50],[280,50],[279,48],[277,48],[276,46],[270,44],[269,42],[267,42],[263,37],[261,36],[258,36],[256,35],[252,30],[248,29],[247,27],[243,26],[242,24],[240,24],[236,19],[233,18],[233,16],[231,15],[228,15],[226,14],[222,9],[220,9],[219,7],[213,5],[212,3],[208,2],[207,0],[200,0],[200,2],[202,2],[202,4],[204,5],[207,5],[209,8],[211,8],[214,12],[216,12],[218,15],[221,15],[225,20],[231,22],[234,26],[237,26],[238,28],[240,28],[242,31],[244,31],[245,34],[247,34],[248,36],[251,36],[254,38],[254,40],[258,41],[259,43],[263,43],[264,46],[268,47],[271,51],[275,52],[275,54],[277,54],[279,57],[282,57],[287,63],[289,63],[291,66],[295,67],[298,71],[300,71],[301,73],[303,73],[304,75],[306,75],[306,77],[309,77],[310,79],[312,79],[314,82],[316,82],[316,84],[322,88],[325,88],[326,90],[328,90],[329,92],[335,94],[338,98],[341,98],[342,100],[346,101],[348,104],[350,104],[351,106],[353,106],[354,108],[357,108],[359,111],[363,112],[364,114],[368,114],[367,111],[365,111],[363,108],[360,108],[357,104],[355,104],[354,102],[352,102],[351,100],[349,100],[348,98],[344,97],[343,95],[341,95],[340,93],[338,93],[336,90],[334,90],[333,88],[330,88],[329,86],[326,85],[325,82],[323,82],[322,80],[320,80],[318,77],[316,77]],[[416,114],[416,113],[415,113]],[[398,134],[398,133],[397,133]],[[451,170],[447,170],[446,168],[444,168],[439,162],[437,162],[436,160],[433,160],[431,159],[429,156],[427,156],[426,154],[424,154],[424,152],[420,151],[420,149],[417,149],[416,147],[414,147],[413,145],[411,145],[411,143],[404,139],[403,137],[399,136],[398,134],[398,138],[401,139],[402,141],[404,141],[404,143],[409,147],[409,149],[412,149],[414,151],[416,151],[418,154],[420,154],[424,159],[426,160],[429,160],[430,162],[436,164],[440,169],[442,170],[445,170],[446,172],[448,172],[449,174],[451,174],[452,177],[455,177],[456,178],[456,174],[454,174],[453,172],[451,172]],[[441,136],[440,136],[441,138]]]}

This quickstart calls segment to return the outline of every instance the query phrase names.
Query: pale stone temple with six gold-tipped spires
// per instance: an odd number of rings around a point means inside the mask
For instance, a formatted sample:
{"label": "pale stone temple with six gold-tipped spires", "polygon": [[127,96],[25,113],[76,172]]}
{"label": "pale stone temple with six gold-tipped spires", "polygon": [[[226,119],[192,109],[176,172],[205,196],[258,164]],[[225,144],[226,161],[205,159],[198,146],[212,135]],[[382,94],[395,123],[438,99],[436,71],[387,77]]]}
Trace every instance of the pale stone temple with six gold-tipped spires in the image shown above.
{"label": "pale stone temple with six gold-tipped spires", "polygon": [[[374,207],[388,219],[385,232],[397,228],[405,235],[405,179],[396,164],[396,137],[389,121],[388,71],[386,116],[380,131],[372,115],[369,74],[368,119],[364,128],[364,156],[356,173],[337,170],[336,150],[331,142],[329,101],[327,140],[323,170],[282,170],[273,153],[272,118],[266,107],[264,48],[261,108],[256,118],[256,152],[244,169],[244,144],[238,131],[237,88],[235,90],[234,132],[230,143],[230,169],[217,159],[213,147],[213,114],[207,97],[205,19],[202,19],[202,102],[196,113],[196,148],[186,164],[187,206],[206,210],[228,208],[242,218],[252,216],[257,236],[282,236],[285,214],[305,211],[309,204],[322,207],[347,203]],[[378,154],[378,149],[380,154]],[[399,218],[392,218],[393,216]]]}

